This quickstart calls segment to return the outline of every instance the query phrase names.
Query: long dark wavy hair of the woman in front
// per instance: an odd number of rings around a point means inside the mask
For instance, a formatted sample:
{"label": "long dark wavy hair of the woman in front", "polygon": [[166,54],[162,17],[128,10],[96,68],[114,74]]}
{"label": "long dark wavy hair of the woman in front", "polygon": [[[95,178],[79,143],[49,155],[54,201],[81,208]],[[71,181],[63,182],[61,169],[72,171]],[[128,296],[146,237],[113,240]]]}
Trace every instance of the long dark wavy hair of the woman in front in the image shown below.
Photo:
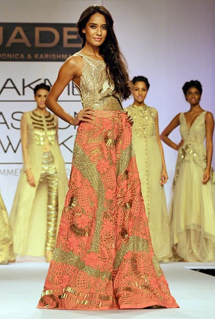
{"label": "long dark wavy hair of the woman in front", "polygon": [[81,13],[77,22],[77,30],[83,41],[82,48],[86,43],[85,33],[82,32],[82,29],[85,28],[90,17],[97,12],[105,17],[107,24],[107,36],[105,42],[100,47],[100,54],[104,58],[106,67],[109,70],[115,91],[125,100],[131,94],[127,64],[119,49],[118,41],[113,30],[113,18],[105,7],[97,5],[90,6]]}

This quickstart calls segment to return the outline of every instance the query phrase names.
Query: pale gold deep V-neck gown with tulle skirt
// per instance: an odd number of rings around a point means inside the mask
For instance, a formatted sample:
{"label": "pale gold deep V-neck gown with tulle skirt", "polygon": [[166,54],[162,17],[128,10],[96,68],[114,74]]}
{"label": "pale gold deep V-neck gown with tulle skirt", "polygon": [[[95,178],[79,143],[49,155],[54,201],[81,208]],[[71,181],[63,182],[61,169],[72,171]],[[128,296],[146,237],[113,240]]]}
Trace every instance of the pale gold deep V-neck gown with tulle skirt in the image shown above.
{"label": "pale gold deep V-neck gown with tulle skirt", "polygon": [[215,261],[215,174],[203,184],[206,168],[203,111],[188,128],[180,114],[183,145],[179,149],[170,204],[171,244],[176,259]]}

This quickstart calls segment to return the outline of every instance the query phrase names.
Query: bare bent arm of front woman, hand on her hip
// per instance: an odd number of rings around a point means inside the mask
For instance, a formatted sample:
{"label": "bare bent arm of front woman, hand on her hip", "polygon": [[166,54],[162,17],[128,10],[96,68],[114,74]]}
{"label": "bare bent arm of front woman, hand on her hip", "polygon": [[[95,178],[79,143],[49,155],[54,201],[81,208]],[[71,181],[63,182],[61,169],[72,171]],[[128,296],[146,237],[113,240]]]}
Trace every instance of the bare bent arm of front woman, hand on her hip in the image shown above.
{"label": "bare bent arm of front woman, hand on her hip", "polygon": [[91,122],[94,116],[94,111],[91,108],[85,108],[78,112],[74,118],[68,114],[58,103],[58,98],[69,84],[75,78],[80,78],[82,70],[82,58],[70,57],[61,66],[58,77],[46,98],[46,106],[55,113],[58,117],[62,118],[65,122],[77,126],[81,121]]}

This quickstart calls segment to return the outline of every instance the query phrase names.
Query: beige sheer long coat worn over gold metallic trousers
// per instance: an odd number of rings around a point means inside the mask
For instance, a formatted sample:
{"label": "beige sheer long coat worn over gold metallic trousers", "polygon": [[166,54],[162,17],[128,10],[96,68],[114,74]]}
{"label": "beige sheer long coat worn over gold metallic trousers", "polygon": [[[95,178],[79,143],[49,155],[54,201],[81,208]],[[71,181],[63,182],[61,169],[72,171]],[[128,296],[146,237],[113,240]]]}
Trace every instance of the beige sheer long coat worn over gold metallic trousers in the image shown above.
{"label": "beige sheer long coat worn over gold metallic trousers", "polygon": [[[33,111],[21,119],[23,169],[19,178],[10,224],[14,251],[20,256],[44,256],[47,231],[48,188],[46,181],[38,187],[42,152],[47,144],[54,157],[58,174],[58,223],[67,192],[65,163],[58,145],[58,119],[54,114],[39,117]],[[26,145],[26,148],[25,148]],[[36,187],[31,187],[25,171],[31,168]]]}

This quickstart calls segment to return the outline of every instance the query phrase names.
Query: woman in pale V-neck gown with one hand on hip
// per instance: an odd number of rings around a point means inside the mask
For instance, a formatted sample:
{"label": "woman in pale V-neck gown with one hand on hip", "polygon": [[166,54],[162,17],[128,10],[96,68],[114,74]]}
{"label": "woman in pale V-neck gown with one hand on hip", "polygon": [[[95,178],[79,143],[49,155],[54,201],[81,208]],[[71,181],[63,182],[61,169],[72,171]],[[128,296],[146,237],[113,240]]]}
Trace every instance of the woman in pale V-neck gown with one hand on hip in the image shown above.
{"label": "woman in pale V-neck gown with one hand on hip", "polygon": [[[161,134],[163,141],[179,152],[169,210],[171,245],[175,260],[215,261],[214,121],[199,105],[200,82],[186,82],[183,91],[190,110],[176,115]],[[179,145],[168,138],[178,125],[182,136]]]}

